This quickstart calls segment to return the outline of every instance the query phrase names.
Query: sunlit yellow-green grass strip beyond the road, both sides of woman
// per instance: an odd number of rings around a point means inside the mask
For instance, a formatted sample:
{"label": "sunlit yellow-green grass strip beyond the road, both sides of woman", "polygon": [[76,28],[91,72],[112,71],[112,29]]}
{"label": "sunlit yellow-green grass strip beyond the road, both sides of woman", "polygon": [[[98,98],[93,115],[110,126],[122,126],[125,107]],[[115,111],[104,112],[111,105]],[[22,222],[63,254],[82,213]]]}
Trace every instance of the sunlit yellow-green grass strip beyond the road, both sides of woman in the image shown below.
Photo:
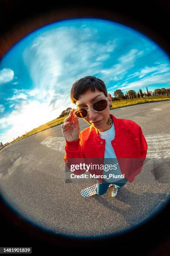
{"label": "sunlit yellow-green grass strip beyond the road, both sides of woman", "polygon": [[[127,106],[132,106],[132,105],[137,105],[137,104],[143,104],[143,103],[148,103],[148,102],[157,102],[157,101],[165,101],[165,100],[170,100],[170,96],[150,96],[150,97],[143,97],[143,98],[130,99],[130,100],[113,101],[112,102],[112,108],[110,108],[110,110],[113,110],[113,109],[116,109],[116,108],[124,108],[124,107],[127,107]],[[13,144],[17,141],[20,141],[23,138],[31,136],[34,133],[38,133],[38,132],[44,131],[48,128],[51,128],[51,127],[62,124],[63,120],[67,116],[68,115],[66,115],[62,118],[56,118],[56,119],[54,119],[54,120],[52,120],[48,123],[40,125],[39,127],[33,129],[32,131],[29,131],[28,133],[25,133],[24,135],[20,136],[20,138],[17,138],[14,141],[11,141],[9,143],[9,145]]]}

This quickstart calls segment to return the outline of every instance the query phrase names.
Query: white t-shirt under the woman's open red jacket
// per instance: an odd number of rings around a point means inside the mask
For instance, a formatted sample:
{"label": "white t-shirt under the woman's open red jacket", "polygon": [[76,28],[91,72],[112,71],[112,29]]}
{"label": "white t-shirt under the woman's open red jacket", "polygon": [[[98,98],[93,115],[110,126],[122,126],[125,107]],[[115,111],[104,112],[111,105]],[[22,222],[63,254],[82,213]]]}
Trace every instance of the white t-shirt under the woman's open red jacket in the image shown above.
{"label": "white t-shirt under the woman's open red jacket", "polygon": [[[104,132],[99,132],[99,136],[102,139],[105,139],[105,159],[104,159],[104,164],[116,164],[117,169],[108,169],[108,171],[103,170],[103,175],[106,175],[107,178],[104,178],[105,181],[111,183],[111,182],[116,182],[117,180],[120,180],[122,178],[116,178],[116,177],[110,177],[109,174],[114,174],[114,175],[121,175],[122,172],[120,171],[120,166],[117,161],[117,157],[115,155],[114,148],[112,147],[111,141],[115,138],[115,125],[112,123],[112,126],[109,130],[104,131]],[[107,160],[107,158],[109,158]],[[118,163],[118,164],[117,164]]]}

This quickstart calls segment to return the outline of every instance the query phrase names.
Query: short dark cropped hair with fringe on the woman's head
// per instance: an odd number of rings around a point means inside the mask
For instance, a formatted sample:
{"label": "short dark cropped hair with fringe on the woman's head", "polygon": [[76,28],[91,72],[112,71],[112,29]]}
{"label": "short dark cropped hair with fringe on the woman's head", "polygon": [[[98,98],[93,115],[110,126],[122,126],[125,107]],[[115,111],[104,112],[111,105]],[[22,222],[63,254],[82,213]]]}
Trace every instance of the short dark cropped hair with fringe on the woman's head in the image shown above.
{"label": "short dark cropped hair with fringe on the woman's head", "polygon": [[70,98],[72,103],[75,104],[76,101],[79,99],[79,96],[82,95],[89,88],[91,88],[91,92],[94,92],[95,88],[97,88],[100,92],[104,92],[105,96],[107,97],[107,88],[105,86],[105,83],[99,78],[87,76],[82,77],[81,79],[74,82],[74,84],[72,84],[70,92]]}

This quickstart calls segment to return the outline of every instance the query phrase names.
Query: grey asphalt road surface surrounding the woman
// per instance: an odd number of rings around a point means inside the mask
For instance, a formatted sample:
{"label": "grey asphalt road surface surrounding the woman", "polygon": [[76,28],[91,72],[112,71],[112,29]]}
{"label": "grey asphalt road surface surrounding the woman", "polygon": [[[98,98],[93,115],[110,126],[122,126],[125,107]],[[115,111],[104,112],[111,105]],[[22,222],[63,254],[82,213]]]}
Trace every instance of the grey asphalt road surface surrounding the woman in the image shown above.
{"label": "grey asphalt road surface surrounding the woman", "polygon": [[[170,198],[170,101],[111,113],[138,123],[148,143],[135,181],[115,198],[108,191],[82,197],[85,184],[65,183],[65,139],[58,125],[0,151],[0,192],[21,217],[63,235],[100,236],[131,228],[163,207]],[[80,120],[81,130],[87,126]]]}

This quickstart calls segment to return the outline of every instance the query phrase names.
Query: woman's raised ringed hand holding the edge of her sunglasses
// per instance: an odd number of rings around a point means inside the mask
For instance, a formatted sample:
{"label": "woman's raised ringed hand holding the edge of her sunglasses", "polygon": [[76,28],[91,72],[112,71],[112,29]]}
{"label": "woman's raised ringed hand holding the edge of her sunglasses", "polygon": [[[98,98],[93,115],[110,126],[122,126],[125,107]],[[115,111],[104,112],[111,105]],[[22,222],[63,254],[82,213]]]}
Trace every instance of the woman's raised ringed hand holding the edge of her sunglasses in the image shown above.
{"label": "woman's raised ringed hand holding the edge of her sunglasses", "polygon": [[62,134],[67,141],[77,141],[80,135],[80,124],[78,118],[73,115],[74,108],[69,113],[69,116],[64,119],[62,124]]}

